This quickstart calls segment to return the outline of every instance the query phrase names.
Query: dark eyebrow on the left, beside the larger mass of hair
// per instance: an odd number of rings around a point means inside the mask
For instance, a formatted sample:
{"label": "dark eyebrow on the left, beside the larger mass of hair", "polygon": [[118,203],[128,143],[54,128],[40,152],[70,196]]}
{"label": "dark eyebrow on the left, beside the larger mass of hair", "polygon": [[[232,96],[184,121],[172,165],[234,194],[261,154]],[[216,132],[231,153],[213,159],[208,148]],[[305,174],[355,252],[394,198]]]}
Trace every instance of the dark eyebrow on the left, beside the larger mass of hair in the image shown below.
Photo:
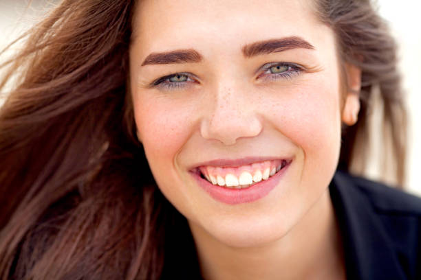
{"label": "dark eyebrow on the left, beside the larger mass of hair", "polygon": [[144,65],[162,65],[170,63],[200,62],[202,56],[194,49],[179,49],[162,53],[152,53],[142,62]]}

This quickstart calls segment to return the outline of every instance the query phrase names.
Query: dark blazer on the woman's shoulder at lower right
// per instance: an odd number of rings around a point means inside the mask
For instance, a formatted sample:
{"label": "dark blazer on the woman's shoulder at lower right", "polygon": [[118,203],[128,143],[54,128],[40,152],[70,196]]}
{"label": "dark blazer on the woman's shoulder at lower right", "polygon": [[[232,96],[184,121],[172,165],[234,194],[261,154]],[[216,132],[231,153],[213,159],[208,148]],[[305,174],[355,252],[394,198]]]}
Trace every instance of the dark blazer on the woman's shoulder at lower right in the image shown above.
{"label": "dark blazer on the woman's shoulder at lower right", "polygon": [[421,198],[343,172],[330,195],[347,279],[421,280]]}

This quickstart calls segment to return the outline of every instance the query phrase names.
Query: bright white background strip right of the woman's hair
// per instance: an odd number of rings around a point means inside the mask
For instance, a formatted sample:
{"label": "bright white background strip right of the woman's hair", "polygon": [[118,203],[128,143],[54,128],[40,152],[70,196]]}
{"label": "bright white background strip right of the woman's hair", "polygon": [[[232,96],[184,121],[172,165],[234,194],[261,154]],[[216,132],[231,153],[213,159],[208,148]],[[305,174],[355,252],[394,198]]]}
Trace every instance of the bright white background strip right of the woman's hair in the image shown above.
{"label": "bright white background strip right of the woman's hair", "polygon": [[400,70],[411,122],[406,187],[421,195],[421,2],[380,0],[378,5],[400,45]]}

